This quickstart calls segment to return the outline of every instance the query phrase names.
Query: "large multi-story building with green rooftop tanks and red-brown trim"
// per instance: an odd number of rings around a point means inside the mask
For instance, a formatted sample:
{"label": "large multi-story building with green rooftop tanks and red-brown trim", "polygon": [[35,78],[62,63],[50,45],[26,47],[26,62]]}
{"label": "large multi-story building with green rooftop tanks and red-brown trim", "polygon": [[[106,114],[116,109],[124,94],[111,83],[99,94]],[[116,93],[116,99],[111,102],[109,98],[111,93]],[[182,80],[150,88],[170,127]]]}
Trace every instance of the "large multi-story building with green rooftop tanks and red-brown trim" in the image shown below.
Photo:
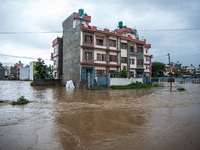
{"label": "large multi-story building with green rooftop tanks and red-brown trim", "polygon": [[98,30],[90,22],[82,9],[63,22],[63,83],[73,80],[79,87],[88,73],[117,73],[124,66],[131,77],[151,74],[151,45],[139,40],[137,30],[122,22],[115,31]]}

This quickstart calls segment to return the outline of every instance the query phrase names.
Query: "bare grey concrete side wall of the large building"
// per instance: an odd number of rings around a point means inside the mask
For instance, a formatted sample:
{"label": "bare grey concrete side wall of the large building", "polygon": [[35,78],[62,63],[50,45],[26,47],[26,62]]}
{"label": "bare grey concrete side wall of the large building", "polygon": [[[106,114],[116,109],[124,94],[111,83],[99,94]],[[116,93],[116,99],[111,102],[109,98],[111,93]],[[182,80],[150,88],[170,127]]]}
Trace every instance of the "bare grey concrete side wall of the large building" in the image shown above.
{"label": "bare grey concrete side wall of the large building", "polygon": [[73,28],[74,14],[63,22],[63,82],[80,86],[80,24]]}

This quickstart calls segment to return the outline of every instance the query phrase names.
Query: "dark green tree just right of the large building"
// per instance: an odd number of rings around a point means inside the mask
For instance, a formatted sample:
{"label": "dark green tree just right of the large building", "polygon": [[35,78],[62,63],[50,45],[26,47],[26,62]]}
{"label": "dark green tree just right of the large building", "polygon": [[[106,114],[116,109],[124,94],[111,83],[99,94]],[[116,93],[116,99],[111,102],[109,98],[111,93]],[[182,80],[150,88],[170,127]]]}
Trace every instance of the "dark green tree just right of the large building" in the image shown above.
{"label": "dark green tree just right of the large building", "polygon": [[166,65],[162,62],[152,63],[152,77],[163,77]]}

